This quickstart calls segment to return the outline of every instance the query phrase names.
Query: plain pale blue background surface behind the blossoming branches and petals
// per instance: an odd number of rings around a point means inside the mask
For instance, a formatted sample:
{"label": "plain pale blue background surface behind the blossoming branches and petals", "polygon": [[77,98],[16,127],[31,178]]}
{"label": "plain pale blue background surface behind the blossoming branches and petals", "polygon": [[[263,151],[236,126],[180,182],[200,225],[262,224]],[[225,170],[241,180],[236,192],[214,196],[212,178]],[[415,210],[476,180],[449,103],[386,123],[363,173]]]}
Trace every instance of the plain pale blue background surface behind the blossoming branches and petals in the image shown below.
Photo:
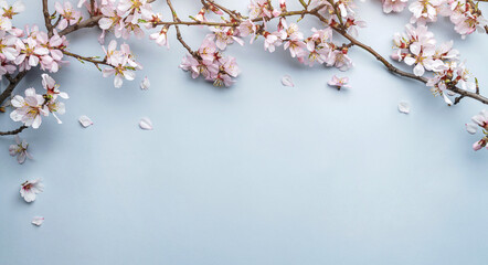
{"label": "plain pale blue background surface behind the blossoming branches and petals", "polygon": [[[198,12],[194,2],[174,3],[181,18]],[[40,3],[18,21],[42,24]],[[410,13],[360,7],[369,28],[359,39],[390,54]],[[487,95],[488,35],[433,30],[455,40]],[[70,35],[72,51],[100,55],[97,34]],[[183,34],[194,49],[204,35]],[[353,88],[338,92],[326,82],[343,73],[264,52],[262,40],[229,49],[243,73],[215,88],[178,68],[184,50],[173,32],[170,42],[170,51],[131,42],[145,70],[120,89],[74,60],[55,74],[67,113],[63,125],[51,117],[22,134],[34,160],[18,165],[13,138],[0,138],[1,265],[488,264],[488,151],[471,150],[480,135],[464,126],[485,106],[447,107],[357,49]],[[21,87],[41,89],[39,74]],[[280,84],[285,74],[296,87]],[[148,92],[138,87],[145,75]],[[83,129],[81,115],[95,125]],[[144,116],[153,131],[139,129]],[[45,191],[28,204],[20,183],[33,178]]]}

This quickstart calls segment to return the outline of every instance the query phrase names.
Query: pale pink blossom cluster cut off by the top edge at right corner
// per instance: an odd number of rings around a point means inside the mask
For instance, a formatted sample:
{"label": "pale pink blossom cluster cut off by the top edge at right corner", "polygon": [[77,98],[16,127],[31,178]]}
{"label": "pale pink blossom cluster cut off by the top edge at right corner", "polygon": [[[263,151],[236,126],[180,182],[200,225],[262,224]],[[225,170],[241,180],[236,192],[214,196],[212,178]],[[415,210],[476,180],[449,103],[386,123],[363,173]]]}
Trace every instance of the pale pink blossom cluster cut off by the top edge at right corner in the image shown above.
{"label": "pale pink blossom cluster cut off by the top edge at right corner", "polygon": [[[401,12],[407,0],[382,0],[383,11]],[[411,23],[426,24],[436,22],[438,17],[447,17],[454,30],[466,38],[475,31],[485,33],[488,21],[481,15],[477,4],[471,0],[416,0],[409,6],[412,12]]]}

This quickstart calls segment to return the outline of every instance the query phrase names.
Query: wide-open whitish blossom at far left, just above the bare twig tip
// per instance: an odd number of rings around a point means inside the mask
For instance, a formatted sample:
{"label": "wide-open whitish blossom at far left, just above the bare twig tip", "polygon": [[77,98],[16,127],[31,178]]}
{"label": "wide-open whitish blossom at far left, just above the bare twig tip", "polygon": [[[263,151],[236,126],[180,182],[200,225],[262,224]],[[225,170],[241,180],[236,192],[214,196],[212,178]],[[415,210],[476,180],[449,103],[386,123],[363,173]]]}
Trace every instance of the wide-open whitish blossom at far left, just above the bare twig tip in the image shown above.
{"label": "wide-open whitish blossom at far left, just above the bare twig tip", "polygon": [[25,98],[19,95],[14,96],[11,104],[15,110],[10,114],[10,118],[14,121],[22,121],[25,126],[32,126],[34,129],[41,126],[41,116],[49,115],[43,96],[38,95],[34,88],[25,89]]}

